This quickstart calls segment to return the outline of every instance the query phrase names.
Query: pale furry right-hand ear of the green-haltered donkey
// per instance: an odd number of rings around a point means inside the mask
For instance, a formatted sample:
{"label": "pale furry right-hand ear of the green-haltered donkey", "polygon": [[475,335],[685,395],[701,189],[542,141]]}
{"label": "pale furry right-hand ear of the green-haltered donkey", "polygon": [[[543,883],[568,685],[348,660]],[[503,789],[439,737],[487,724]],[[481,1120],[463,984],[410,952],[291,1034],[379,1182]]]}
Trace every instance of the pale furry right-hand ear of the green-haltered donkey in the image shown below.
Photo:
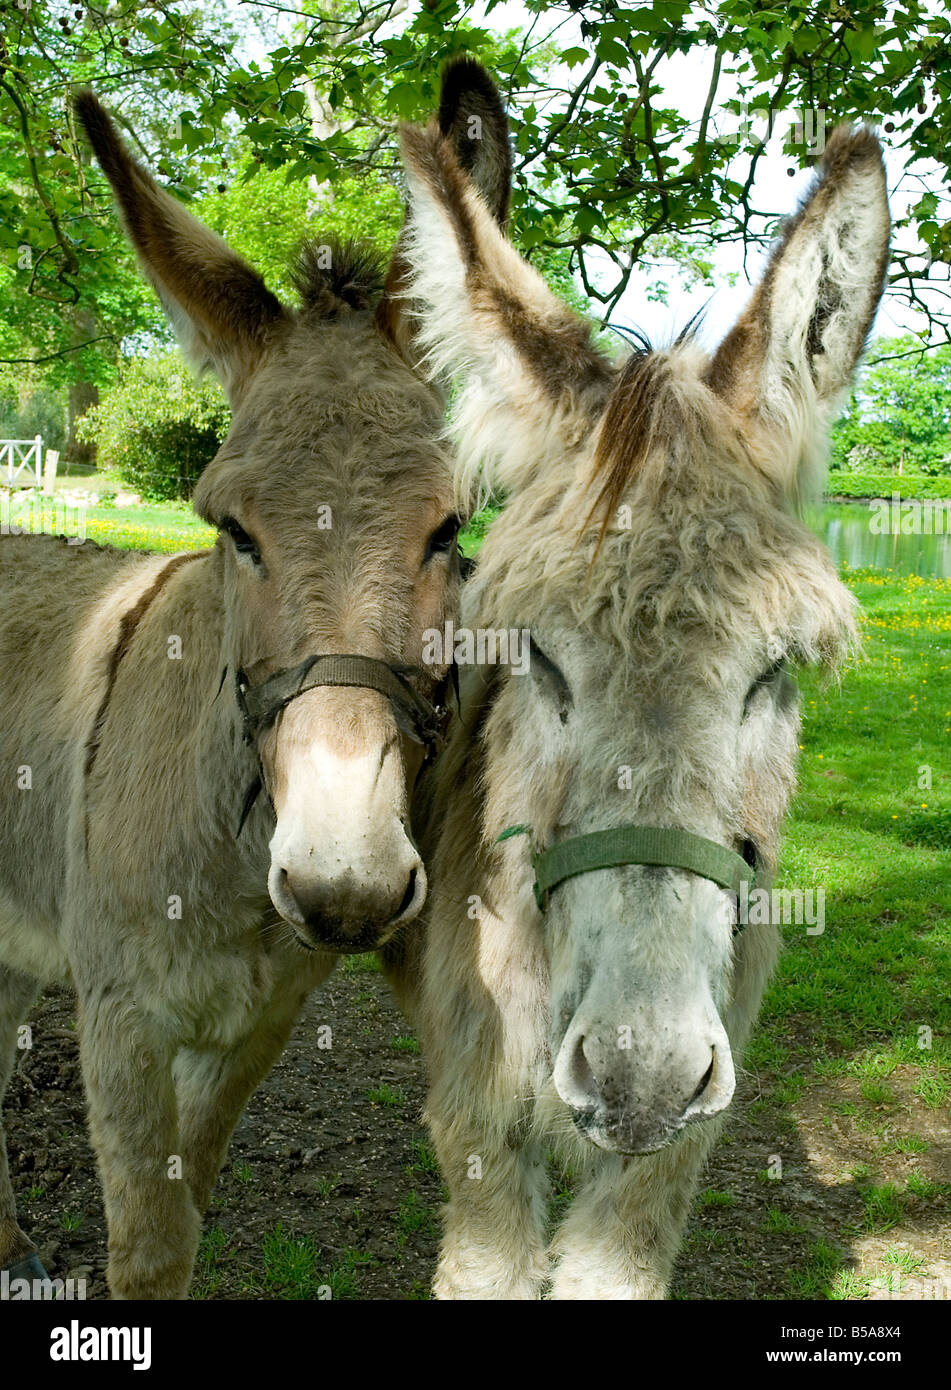
{"label": "pale furry right-hand ear of the green-haltered donkey", "polygon": [[788,499],[820,482],[824,436],[875,318],[888,261],[881,147],[838,126],[706,382],[745,420],[754,457]]}

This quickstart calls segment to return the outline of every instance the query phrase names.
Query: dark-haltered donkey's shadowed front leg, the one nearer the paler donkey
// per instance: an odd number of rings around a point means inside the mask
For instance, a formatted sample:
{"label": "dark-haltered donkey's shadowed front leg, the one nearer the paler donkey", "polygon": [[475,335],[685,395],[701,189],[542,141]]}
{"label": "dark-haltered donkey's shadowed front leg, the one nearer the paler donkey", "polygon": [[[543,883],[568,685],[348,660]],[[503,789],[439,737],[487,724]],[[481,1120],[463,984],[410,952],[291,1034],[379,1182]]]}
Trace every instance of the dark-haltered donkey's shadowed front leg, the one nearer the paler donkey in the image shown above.
{"label": "dark-haltered donkey's shadowed front leg, the one nearer the paler donkey", "polygon": [[185,1177],[199,1212],[204,1212],[235,1125],[286,1047],[310,990],[321,983],[336,958],[304,990],[278,988],[253,1031],[225,1049],[184,1048],[175,1059],[175,1086]]}

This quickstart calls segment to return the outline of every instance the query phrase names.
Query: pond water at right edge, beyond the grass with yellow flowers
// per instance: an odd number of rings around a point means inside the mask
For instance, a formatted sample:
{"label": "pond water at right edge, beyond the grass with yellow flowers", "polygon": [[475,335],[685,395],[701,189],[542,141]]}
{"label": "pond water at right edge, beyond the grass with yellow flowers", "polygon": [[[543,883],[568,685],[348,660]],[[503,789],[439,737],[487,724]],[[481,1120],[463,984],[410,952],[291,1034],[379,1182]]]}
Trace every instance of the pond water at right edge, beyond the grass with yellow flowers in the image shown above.
{"label": "pond water at right edge, beyond the grass with yellow flowers", "polygon": [[[922,502],[919,506],[925,509],[927,503]],[[877,514],[865,502],[829,502],[809,512],[805,520],[826,542],[838,569],[847,564],[854,570],[894,570],[897,574],[920,574],[927,580],[951,578],[951,506],[945,509],[944,517],[940,510],[934,513],[932,525],[933,530],[943,528],[940,535],[904,535],[890,524],[891,518],[887,534],[879,535],[872,528]],[[922,530],[923,510],[918,516],[920,524],[915,523],[913,513],[905,512],[905,525],[918,524]],[[880,521],[877,527],[881,527]]]}

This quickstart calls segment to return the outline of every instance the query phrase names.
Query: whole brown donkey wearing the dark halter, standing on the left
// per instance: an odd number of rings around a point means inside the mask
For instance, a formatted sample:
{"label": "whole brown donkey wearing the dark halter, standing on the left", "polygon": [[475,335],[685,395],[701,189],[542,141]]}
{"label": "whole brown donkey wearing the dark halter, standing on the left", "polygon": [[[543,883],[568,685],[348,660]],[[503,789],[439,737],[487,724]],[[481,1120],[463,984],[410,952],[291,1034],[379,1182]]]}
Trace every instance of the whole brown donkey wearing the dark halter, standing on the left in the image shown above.
{"label": "whole brown donkey wearing the dark halter, standing on the left", "polygon": [[[1,1080],[42,983],[71,979],[110,1289],[181,1298],[235,1122],[304,997],[423,905],[406,821],[442,673],[421,670],[421,634],[455,603],[457,521],[399,252],[381,297],[366,257],[324,270],[311,250],[286,309],[92,95],[76,110],[232,427],[195,492],[210,552],[0,541]],[[503,125],[460,64],[441,128],[502,217],[507,165],[473,149],[471,113]],[[1,1143],[0,1266],[42,1275]]]}

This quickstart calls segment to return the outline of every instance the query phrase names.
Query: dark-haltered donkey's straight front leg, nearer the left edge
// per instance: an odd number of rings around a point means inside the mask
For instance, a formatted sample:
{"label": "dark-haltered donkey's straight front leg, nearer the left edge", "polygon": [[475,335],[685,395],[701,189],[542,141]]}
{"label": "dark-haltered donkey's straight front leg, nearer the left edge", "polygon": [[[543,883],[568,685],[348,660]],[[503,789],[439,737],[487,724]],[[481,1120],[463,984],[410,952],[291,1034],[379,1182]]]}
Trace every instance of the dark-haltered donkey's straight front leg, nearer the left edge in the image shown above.
{"label": "dark-haltered donkey's straight front leg, nearer the left edge", "polygon": [[174,1040],[118,983],[79,990],[79,1055],[113,1298],[184,1298],[200,1218],[182,1180]]}

